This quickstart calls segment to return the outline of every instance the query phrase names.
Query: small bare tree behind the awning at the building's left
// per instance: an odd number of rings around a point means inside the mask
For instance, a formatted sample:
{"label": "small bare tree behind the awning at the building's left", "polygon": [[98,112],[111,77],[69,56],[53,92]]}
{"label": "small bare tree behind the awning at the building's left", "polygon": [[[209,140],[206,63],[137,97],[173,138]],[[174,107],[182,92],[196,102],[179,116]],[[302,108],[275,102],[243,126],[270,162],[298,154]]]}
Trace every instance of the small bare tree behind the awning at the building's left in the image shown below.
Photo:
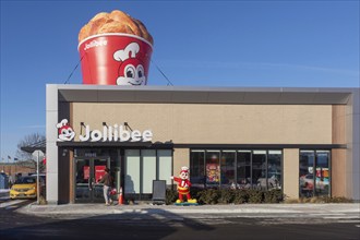
{"label": "small bare tree behind the awning at the building's left", "polygon": [[[39,133],[32,133],[28,135],[25,135],[23,140],[21,140],[17,143],[17,151],[16,151],[16,158],[20,160],[19,165],[28,165],[31,163],[32,169],[36,171],[36,160],[33,159],[32,153],[27,153],[22,149],[22,147],[33,147],[44,144],[45,145],[46,137],[45,135],[41,135]],[[39,171],[45,170],[45,165],[43,163],[43,159],[39,161]]]}

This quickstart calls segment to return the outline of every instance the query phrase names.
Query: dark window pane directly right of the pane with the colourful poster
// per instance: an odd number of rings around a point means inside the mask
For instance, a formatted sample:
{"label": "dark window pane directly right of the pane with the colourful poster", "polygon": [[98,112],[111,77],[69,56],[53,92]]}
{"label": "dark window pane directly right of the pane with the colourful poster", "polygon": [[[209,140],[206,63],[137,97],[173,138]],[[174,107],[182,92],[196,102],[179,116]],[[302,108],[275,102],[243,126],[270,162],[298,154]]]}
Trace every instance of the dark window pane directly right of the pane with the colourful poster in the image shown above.
{"label": "dark window pane directly right of the pane with the colourful poster", "polygon": [[220,166],[220,180],[223,188],[235,188],[235,151],[223,151],[221,152],[221,166]]}

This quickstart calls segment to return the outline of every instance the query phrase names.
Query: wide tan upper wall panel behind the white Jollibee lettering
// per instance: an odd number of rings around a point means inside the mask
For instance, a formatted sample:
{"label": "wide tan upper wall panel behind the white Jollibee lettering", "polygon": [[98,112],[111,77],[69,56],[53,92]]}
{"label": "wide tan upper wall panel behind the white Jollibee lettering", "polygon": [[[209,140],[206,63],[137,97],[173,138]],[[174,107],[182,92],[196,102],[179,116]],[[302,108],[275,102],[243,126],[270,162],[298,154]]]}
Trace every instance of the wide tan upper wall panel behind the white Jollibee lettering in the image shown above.
{"label": "wide tan upper wall panel behind the white Jollibee lettering", "polygon": [[[153,142],[331,144],[332,106],[74,103],[73,129],[128,122],[153,131]],[[84,132],[84,131],[83,131]]]}

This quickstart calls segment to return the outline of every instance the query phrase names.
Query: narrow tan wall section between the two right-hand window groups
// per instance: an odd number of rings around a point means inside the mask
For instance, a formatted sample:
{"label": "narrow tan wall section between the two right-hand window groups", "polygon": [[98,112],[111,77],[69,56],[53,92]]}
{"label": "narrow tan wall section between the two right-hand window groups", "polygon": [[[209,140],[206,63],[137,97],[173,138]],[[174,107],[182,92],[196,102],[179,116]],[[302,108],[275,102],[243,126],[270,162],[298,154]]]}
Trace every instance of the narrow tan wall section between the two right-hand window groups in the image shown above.
{"label": "narrow tan wall section between the two right-hand window groups", "polygon": [[284,149],[284,194],[290,199],[299,197],[299,149]]}

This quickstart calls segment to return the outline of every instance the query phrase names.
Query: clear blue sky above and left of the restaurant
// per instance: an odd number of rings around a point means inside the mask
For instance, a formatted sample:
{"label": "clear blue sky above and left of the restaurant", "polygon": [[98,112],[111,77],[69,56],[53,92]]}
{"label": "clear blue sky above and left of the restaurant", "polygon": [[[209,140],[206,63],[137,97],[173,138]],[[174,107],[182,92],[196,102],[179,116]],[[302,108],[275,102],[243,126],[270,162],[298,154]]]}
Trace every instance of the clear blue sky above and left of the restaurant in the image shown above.
{"label": "clear blue sky above and left of the restaurant", "polygon": [[[77,34],[122,10],[154,37],[173,85],[359,87],[359,1],[1,1],[1,157],[45,134],[46,84],[77,64]],[[167,85],[151,65],[148,85]],[[70,84],[81,84],[77,68]]]}

